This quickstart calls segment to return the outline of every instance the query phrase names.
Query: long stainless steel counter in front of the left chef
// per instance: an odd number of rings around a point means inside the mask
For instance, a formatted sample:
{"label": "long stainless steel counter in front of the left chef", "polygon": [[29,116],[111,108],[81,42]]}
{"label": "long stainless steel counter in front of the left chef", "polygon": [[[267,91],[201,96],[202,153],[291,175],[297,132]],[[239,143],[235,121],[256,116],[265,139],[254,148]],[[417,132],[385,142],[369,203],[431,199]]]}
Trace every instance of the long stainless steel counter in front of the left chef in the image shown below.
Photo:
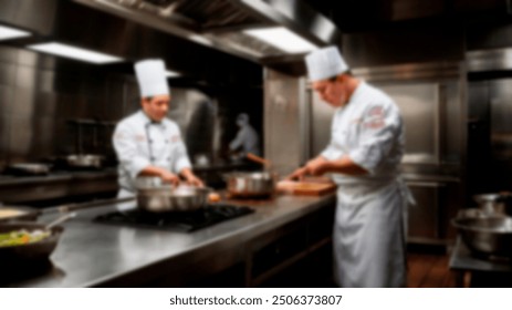
{"label": "long stainless steel counter in front of the left chef", "polygon": [[[334,195],[276,196],[269,200],[231,200],[252,206],[255,213],[191,234],[93,223],[116,205],[81,210],[65,223],[64,234],[51,256],[53,268],[8,287],[142,286],[165,273],[187,277],[187,268],[208,260],[226,268],[248,257],[247,244],[272,235],[290,223],[332,206]],[[227,203],[230,203],[229,200]],[[132,203],[135,207],[135,202]],[[40,221],[50,221],[50,216]],[[323,225],[332,225],[325,223]],[[199,265],[200,266],[200,265]]]}

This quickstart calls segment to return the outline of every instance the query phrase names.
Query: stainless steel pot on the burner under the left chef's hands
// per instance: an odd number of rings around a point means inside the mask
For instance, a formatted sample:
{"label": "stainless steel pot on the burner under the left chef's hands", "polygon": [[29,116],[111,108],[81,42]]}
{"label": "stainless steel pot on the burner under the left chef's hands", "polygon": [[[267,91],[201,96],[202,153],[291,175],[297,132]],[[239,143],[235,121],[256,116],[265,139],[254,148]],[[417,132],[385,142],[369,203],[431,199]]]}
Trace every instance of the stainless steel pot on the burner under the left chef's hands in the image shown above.
{"label": "stainless steel pot on the burner under the left chef's hands", "polygon": [[137,206],[151,213],[190,211],[208,203],[209,188],[161,184],[159,178],[137,179]]}

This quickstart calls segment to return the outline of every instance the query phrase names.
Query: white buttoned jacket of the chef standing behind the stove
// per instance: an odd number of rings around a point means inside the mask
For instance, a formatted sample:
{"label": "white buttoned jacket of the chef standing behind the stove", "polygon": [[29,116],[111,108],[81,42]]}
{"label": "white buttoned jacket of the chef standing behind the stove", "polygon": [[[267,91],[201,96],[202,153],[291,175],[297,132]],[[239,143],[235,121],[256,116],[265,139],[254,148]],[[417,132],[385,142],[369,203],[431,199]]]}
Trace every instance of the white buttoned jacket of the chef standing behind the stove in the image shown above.
{"label": "white buttoned jacket of the chef standing behind the stove", "polygon": [[119,161],[118,183],[125,190],[135,192],[135,178],[149,165],[175,174],[191,167],[178,125],[168,118],[151,122],[143,111],[117,124],[113,144]]}

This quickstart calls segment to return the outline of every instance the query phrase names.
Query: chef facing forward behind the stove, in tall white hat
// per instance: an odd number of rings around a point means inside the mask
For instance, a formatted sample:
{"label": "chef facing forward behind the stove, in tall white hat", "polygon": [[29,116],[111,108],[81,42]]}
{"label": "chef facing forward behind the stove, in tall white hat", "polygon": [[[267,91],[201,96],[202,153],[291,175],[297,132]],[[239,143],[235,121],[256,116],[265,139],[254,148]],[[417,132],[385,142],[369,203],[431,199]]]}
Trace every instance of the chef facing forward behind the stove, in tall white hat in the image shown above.
{"label": "chef facing forward behind the stove, in tall white hat", "polygon": [[178,125],[167,118],[170,92],[161,60],[135,64],[140,90],[142,110],[122,120],[113,144],[119,161],[118,197],[135,194],[137,176],[158,176],[177,185],[179,176],[191,185],[202,186],[194,175]]}

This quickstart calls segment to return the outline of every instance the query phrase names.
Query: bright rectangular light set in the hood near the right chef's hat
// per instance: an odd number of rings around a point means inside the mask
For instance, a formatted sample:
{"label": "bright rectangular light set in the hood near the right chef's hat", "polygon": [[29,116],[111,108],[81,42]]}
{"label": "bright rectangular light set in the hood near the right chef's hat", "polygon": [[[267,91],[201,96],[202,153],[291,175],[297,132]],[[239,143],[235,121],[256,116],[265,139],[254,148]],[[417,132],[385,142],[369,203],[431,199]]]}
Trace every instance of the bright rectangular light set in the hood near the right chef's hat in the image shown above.
{"label": "bright rectangular light set in the hood near the right chef's hat", "polygon": [[274,45],[286,53],[305,53],[318,49],[318,46],[302,39],[284,27],[251,29],[243,32]]}

